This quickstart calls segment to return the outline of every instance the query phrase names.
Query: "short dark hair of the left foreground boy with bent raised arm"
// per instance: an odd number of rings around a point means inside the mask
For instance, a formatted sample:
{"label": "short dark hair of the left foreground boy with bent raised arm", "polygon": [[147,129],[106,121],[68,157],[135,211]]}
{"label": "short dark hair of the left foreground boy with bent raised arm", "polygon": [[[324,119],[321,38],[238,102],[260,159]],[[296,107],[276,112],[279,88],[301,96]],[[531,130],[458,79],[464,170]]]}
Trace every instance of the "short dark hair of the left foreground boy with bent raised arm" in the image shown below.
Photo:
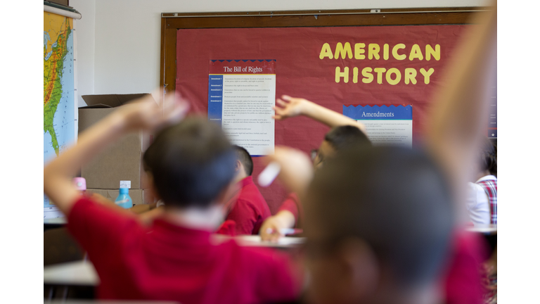
{"label": "short dark hair of the left foreground boy with bent raised arm", "polygon": [[233,179],[235,159],[219,125],[193,117],[162,130],[143,157],[165,205],[203,208]]}

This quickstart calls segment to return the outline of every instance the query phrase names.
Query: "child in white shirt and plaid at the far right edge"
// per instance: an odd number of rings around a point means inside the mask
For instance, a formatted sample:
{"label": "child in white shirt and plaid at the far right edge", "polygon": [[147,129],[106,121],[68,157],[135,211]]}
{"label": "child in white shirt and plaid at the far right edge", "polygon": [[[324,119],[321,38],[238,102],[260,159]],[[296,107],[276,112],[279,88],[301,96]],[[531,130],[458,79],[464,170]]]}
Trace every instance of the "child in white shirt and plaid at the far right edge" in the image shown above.
{"label": "child in white shirt and plaid at the far right edge", "polygon": [[469,183],[467,210],[475,225],[497,223],[497,156],[489,139],[482,141],[477,181]]}

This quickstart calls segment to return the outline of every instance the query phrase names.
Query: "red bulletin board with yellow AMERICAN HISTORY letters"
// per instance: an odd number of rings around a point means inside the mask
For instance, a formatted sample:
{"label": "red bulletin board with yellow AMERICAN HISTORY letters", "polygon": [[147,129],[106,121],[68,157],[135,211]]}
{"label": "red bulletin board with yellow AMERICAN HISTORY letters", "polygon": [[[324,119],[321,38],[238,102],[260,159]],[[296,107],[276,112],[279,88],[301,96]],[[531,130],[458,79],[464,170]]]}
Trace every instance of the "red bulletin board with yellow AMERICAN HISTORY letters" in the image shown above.
{"label": "red bulletin board with yellow AMERICAN HISTORY letters", "polygon": [[[410,104],[413,141],[417,142],[423,134],[432,92],[442,84],[445,63],[463,32],[473,26],[179,29],[176,92],[192,102],[195,112],[206,115],[210,60],[275,59],[276,96],[302,97],[338,113],[344,104]],[[336,77],[336,70],[345,72],[345,68],[349,68],[348,82],[343,75]],[[366,68],[372,69],[371,82]],[[429,81],[423,74],[430,74]],[[290,118],[277,121],[275,132],[276,145],[309,152],[321,144],[328,127],[308,118]],[[262,169],[261,160],[255,158],[253,176]],[[277,183],[259,189],[275,213],[286,191]]]}

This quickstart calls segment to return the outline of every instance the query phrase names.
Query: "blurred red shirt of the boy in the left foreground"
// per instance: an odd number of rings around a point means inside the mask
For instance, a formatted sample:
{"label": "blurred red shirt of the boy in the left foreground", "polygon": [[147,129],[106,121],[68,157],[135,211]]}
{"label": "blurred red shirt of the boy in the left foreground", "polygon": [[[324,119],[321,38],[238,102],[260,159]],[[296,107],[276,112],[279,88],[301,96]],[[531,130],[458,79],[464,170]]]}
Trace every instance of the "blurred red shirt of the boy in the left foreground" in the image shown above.
{"label": "blurred red shirt of the boy in the left foreground", "polygon": [[68,229],[101,279],[98,297],[190,303],[293,300],[300,284],[289,258],[162,219],[145,227],[134,216],[79,198]]}

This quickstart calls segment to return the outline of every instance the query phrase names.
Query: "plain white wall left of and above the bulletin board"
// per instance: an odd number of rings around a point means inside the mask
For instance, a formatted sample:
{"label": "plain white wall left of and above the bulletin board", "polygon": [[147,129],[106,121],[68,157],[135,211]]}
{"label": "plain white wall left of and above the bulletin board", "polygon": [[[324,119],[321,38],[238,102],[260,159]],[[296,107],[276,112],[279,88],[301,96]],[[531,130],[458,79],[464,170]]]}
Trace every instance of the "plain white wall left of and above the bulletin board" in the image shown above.
{"label": "plain white wall left of and above the bulletin board", "polygon": [[[71,0],[79,96],[150,92],[159,85],[161,13],[482,6],[485,0]],[[79,106],[85,103],[79,97]]]}

